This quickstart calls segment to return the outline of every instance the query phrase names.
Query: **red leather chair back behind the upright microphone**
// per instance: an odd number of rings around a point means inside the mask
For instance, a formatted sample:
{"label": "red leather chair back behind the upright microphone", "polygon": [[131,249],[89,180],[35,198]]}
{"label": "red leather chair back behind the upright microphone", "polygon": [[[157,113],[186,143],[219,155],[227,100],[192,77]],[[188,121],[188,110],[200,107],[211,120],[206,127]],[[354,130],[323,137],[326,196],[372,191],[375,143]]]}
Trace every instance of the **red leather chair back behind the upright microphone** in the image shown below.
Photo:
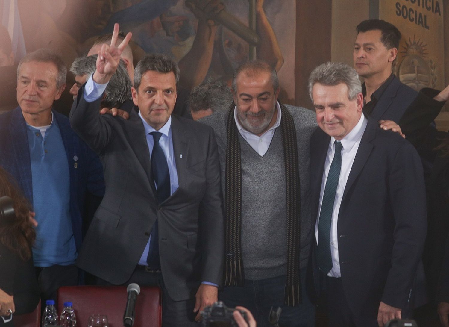
{"label": "red leather chair back behind the upright microphone", "polygon": [[[57,291],[57,309],[72,302],[76,326],[87,327],[89,316],[108,316],[109,327],[123,327],[123,313],[128,299],[125,286],[67,286]],[[134,326],[160,327],[162,323],[161,291],[158,287],[141,287],[136,300]]]}

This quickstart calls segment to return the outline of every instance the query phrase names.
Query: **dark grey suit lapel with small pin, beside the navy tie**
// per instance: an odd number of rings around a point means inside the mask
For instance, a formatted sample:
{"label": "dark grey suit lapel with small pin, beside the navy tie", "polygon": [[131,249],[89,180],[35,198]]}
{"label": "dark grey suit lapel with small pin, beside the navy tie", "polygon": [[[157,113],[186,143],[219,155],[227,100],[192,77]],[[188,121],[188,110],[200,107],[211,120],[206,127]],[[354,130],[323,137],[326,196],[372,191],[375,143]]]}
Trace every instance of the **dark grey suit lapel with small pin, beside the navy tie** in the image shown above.
{"label": "dark grey suit lapel with small pin, beside the navy tie", "polygon": [[176,171],[178,174],[178,185],[181,188],[185,188],[190,137],[176,115],[172,115],[172,141],[173,155],[175,156]]}

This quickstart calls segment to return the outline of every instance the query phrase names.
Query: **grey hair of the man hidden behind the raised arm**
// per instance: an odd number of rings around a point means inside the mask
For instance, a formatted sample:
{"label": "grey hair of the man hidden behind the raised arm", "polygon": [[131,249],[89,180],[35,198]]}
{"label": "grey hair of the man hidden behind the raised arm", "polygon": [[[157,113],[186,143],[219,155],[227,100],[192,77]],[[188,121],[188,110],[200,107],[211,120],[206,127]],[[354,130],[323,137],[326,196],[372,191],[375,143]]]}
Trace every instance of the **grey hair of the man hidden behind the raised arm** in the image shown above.
{"label": "grey hair of the man hidden behind the raised arm", "polygon": [[[88,57],[78,57],[72,63],[70,71],[74,75],[91,75],[97,69],[98,55]],[[125,63],[120,59],[119,66],[106,86],[105,98],[101,101],[101,106],[106,108],[119,108],[125,101],[132,100],[131,80]]]}

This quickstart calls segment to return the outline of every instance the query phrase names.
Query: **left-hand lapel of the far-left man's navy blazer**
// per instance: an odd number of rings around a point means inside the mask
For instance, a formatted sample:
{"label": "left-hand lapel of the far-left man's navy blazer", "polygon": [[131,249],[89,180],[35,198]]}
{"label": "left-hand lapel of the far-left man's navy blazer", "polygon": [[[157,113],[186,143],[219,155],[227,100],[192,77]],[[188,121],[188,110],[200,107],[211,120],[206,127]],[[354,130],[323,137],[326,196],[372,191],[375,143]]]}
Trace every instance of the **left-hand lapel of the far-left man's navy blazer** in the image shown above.
{"label": "left-hand lapel of the far-left man's navy blazer", "polygon": [[28,136],[26,134],[26,123],[22,115],[22,109],[14,109],[9,127],[11,142],[13,146],[13,156],[17,161],[18,182],[22,187],[25,197],[33,204],[33,182],[31,179],[31,159],[30,148],[28,146]]}

